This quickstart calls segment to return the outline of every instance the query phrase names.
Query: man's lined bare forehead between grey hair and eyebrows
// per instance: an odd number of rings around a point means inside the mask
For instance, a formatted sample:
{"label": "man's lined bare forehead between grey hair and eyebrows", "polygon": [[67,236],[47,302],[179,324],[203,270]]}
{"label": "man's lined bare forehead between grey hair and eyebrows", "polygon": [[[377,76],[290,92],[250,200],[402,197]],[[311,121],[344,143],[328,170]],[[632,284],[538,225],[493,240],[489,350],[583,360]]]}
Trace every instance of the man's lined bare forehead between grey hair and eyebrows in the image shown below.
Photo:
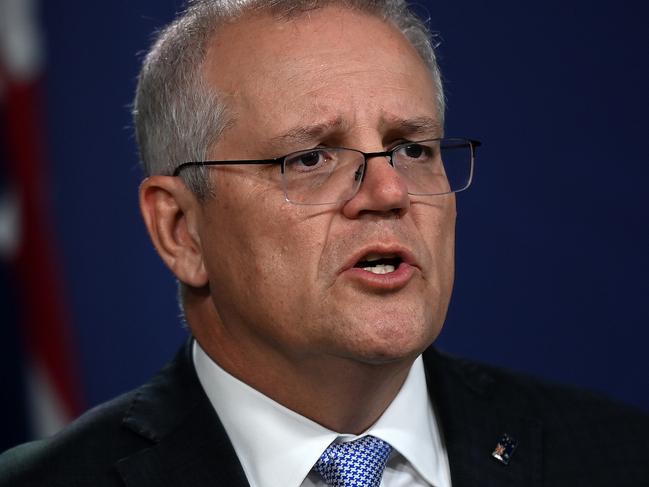
{"label": "man's lined bare forehead between grey hair and eyebrows", "polygon": [[243,124],[251,136],[312,124],[347,131],[388,126],[437,112],[430,72],[403,34],[340,7],[290,19],[249,15],[223,26],[204,76],[235,127]]}

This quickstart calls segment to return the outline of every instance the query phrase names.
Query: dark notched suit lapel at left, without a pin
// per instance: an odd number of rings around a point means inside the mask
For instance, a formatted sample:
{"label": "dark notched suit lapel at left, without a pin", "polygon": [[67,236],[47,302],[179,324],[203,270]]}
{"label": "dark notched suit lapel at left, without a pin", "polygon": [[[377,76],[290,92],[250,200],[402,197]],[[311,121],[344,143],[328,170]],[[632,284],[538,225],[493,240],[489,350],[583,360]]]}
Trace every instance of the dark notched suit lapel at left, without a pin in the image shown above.
{"label": "dark notched suit lapel at left, without a pin", "polygon": [[192,365],[191,341],[153,381],[138,390],[123,425],[151,443],[117,462],[127,486],[249,485],[200,386]]}

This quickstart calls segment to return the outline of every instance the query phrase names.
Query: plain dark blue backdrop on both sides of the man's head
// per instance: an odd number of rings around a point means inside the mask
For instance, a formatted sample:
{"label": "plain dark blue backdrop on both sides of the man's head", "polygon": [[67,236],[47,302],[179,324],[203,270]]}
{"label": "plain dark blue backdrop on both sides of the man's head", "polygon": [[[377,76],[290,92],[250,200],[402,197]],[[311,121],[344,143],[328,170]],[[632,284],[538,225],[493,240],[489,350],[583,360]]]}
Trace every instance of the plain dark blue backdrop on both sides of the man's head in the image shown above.
{"label": "plain dark blue backdrop on both sides of the man's head", "polygon": [[[140,221],[128,108],[138,53],[180,2],[43,3],[57,237],[96,404],[185,336]],[[649,409],[647,4],[420,3],[447,133],[484,142],[439,345]]]}

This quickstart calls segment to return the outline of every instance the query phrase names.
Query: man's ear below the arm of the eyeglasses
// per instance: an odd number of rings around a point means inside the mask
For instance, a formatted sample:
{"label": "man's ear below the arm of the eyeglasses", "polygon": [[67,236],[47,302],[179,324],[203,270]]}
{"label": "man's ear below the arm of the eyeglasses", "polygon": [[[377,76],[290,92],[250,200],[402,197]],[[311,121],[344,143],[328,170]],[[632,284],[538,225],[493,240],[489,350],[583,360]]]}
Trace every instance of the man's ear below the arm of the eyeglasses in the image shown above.
{"label": "man's ear below the arm of the eyeglasses", "polygon": [[158,254],[178,280],[207,284],[197,225],[200,203],[180,178],[151,176],[140,185],[140,210]]}

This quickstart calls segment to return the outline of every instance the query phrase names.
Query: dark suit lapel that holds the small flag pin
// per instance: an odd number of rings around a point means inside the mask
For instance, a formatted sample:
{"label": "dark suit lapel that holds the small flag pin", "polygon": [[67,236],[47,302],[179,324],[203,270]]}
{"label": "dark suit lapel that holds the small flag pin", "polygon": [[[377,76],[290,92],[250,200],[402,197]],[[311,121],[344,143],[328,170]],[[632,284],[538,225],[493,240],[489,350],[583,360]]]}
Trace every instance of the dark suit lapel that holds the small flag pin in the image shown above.
{"label": "dark suit lapel that holds the small flag pin", "polygon": [[[540,422],[508,409],[508,398],[497,395],[495,379],[484,369],[434,349],[424,354],[424,363],[453,487],[541,485]],[[507,465],[492,457],[503,434],[517,441]]]}

